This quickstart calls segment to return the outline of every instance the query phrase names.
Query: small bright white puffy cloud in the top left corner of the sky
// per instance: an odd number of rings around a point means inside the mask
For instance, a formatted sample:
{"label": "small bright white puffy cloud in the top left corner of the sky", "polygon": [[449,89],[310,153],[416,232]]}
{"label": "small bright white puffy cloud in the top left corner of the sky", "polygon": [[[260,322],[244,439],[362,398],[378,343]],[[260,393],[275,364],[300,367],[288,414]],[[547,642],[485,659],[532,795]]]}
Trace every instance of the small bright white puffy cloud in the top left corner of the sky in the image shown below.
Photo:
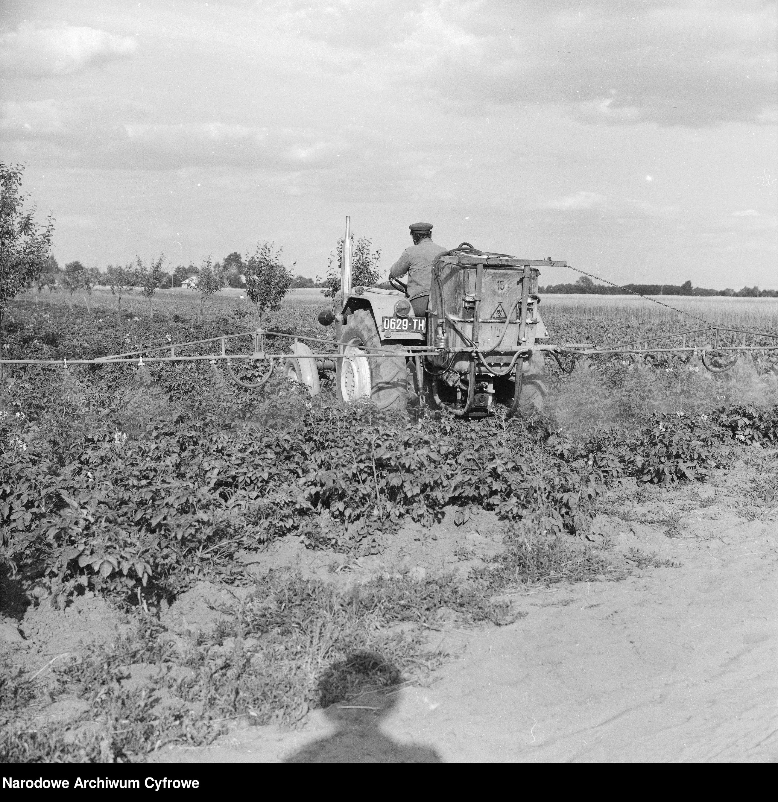
{"label": "small bright white puffy cloud in the top left corner of the sky", "polygon": [[5,75],[42,77],[71,75],[135,53],[136,40],[95,28],[22,25],[0,36],[0,70]]}

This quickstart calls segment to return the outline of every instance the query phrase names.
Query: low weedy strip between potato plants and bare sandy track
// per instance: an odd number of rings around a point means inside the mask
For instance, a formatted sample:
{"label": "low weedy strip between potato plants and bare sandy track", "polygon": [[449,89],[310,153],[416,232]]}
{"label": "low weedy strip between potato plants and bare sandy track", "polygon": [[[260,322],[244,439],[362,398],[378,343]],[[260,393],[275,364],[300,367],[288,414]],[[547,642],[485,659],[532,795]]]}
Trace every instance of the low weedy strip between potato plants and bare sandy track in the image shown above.
{"label": "low weedy strip between potato plants and bare sandy track", "polygon": [[[132,636],[59,662],[45,679],[6,665],[0,761],[136,761],[170,743],[210,743],[227,722],[294,725],[311,709],[423,679],[440,663],[419,634],[393,631],[397,622],[434,628],[441,610],[462,622],[506,621],[509,610],[486,590],[444,576],[338,591],[270,573],[195,641],[145,618]],[[30,724],[36,708],[74,697],[89,703],[75,722]]]}

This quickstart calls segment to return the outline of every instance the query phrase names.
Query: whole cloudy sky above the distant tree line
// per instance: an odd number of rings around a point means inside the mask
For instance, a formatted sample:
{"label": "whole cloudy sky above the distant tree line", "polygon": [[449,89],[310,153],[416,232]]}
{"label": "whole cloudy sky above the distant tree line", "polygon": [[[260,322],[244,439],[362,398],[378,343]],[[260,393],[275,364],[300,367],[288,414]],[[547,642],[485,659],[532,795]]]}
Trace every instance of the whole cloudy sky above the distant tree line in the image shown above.
{"label": "whole cloudy sky above the distant tree line", "polygon": [[349,215],[384,270],[426,221],[614,282],[774,289],[776,10],[3,0],[0,159],[60,265],[267,240],[323,276]]}

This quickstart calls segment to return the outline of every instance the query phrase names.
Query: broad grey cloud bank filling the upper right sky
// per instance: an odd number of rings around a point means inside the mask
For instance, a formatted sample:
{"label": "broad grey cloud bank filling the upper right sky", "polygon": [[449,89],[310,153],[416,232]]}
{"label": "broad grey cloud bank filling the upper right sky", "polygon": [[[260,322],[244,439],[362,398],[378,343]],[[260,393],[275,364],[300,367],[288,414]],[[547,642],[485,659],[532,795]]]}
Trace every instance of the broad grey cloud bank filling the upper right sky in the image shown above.
{"label": "broad grey cloud bank filling the upper right sky", "polygon": [[697,128],[776,116],[769,0],[366,5],[352,14],[335,0],[286,18],[308,23],[301,35],[324,46],[323,70],[353,65],[459,114],[553,104],[588,124]]}

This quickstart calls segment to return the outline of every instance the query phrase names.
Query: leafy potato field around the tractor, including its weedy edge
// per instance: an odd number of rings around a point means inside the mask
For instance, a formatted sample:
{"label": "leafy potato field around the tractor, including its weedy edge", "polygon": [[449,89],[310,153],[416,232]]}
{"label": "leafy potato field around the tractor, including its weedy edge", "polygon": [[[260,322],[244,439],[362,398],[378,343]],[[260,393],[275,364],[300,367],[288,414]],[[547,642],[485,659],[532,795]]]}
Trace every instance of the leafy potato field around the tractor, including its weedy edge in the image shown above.
{"label": "leafy potato field around the tractor, including its weedy edge", "polygon": [[[775,302],[738,300],[689,308],[778,334]],[[699,328],[646,301],[544,301],[550,342]],[[263,324],[331,337],[327,303],[293,291]],[[2,355],[89,359],[257,325],[237,290],[199,324],[197,304],[27,293]],[[517,589],[660,569],[612,548],[598,515],[619,488],[702,488],[772,453],[776,353],[720,375],[688,352],[583,359],[571,375],[546,358],[540,414],[475,421],[343,408],[331,373],[310,397],[281,371],[249,390],[207,361],[6,366],[0,759],[142,761],[235,727],[304,727],[366,691],[430,683],[453,659],[430,635],[517,621]],[[765,515],[768,474],[750,502]]]}

